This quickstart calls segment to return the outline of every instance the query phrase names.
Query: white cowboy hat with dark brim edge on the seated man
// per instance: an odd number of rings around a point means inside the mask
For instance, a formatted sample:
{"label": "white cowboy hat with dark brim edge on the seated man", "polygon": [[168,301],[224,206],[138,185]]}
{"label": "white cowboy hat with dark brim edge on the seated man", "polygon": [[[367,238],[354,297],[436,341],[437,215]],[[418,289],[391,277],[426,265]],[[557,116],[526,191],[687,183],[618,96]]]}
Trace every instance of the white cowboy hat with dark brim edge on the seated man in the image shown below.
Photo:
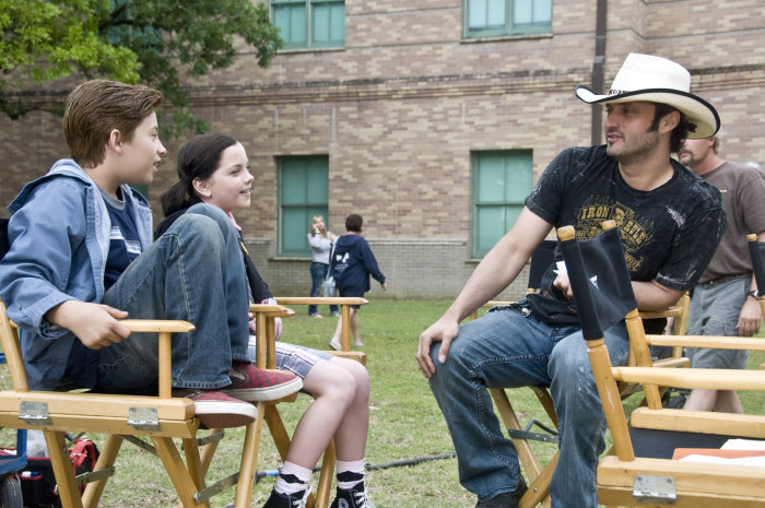
{"label": "white cowboy hat with dark brim edge on the seated man", "polygon": [[711,104],[691,93],[691,73],[661,57],[631,52],[607,95],[578,85],[576,96],[588,104],[633,101],[668,104],[683,111],[696,126],[694,131],[688,131],[690,139],[709,138],[720,129],[720,117]]}

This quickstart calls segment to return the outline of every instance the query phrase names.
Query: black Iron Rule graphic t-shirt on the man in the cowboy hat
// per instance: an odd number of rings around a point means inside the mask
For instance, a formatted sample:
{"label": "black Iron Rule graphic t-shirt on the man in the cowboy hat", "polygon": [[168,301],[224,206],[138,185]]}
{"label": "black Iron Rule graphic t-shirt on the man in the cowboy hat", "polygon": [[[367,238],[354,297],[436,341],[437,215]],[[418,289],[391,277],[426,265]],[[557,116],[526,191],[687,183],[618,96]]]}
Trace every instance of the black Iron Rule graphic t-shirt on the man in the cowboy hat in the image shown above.
{"label": "black Iron Rule graphic t-shirt on the man in the cowboy hat", "polygon": [[[526,205],[556,228],[573,225],[582,240],[597,236],[603,221],[613,220],[633,281],[656,280],[686,291],[715,253],[726,214],[715,187],[675,161],[672,166],[668,182],[642,191],[624,181],[605,145],[567,149],[550,163]],[[540,293],[530,295],[532,307],[544,321],[578,322],[573,303],[558,300],[561,295],[551,290],[554,276],[551,267]]]}

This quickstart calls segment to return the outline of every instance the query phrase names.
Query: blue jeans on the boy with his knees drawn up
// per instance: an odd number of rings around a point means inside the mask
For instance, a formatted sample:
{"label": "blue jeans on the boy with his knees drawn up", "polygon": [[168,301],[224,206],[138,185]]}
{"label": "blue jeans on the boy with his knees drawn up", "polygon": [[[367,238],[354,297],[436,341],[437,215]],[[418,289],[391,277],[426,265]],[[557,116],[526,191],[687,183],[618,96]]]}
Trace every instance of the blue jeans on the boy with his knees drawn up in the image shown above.
{"label": "blue jeans on the boy with his knees drawn up", "polygon": [[[173,386],[231,383],[235,359],[247,361],[248,294],[236,232],[217,208],[196,204],[139,256],[103,303],[130,318],[183,319],[196,326],[173,338]],[[155,333],[132,333],[99,350],[97,388],[125,392],[157,377]]]}

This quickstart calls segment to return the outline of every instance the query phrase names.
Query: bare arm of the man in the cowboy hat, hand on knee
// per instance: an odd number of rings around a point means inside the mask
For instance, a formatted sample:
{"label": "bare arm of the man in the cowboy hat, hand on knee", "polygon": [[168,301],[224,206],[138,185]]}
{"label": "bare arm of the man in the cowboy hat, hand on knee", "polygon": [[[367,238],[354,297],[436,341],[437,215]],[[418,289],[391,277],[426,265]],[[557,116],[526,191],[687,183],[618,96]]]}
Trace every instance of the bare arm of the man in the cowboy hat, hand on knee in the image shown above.
{"label": "bare arm of the man in the cowboy hat, hand on knee", "polygon": [[431,345],[442,342],[438,358],[442,363],[446,362],[449,345],[459,331],[459,322],[518,276],[531,252],[551,228],[552,224],[523,208],[516,224],[479,263],[451,306],[420,335],[416,358],[423,376],[429,378],[435,374],[429,355]]}

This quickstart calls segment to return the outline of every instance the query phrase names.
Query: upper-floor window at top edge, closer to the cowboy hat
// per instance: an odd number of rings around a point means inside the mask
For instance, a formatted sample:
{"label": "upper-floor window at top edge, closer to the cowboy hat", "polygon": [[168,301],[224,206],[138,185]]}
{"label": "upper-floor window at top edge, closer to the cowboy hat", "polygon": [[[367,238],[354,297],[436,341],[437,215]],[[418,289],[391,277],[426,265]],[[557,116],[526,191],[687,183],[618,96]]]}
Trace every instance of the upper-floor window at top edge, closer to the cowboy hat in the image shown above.
{"label": "upper-floor window at top edge, closer to the cowboy hat", "polygon": [[552,32],[552,0],[464,0],[464,36],[499,37]]}

